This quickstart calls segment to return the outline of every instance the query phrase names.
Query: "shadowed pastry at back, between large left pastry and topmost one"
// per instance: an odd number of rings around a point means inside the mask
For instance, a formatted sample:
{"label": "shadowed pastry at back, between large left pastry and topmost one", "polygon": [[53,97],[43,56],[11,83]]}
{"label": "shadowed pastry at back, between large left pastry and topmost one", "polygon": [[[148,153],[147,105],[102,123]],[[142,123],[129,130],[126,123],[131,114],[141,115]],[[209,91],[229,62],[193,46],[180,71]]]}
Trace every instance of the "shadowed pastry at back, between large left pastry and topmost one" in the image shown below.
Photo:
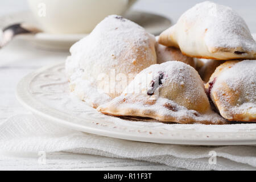
{"label": "shadowed pastry at back, between large left pastry and topmost one", "polygon": [[[158,36],[156,37],[158,40]],[[176,47],[166,47],[158,42],[155,44],[156,51],[156,59],[157,63],[161,64],[167,61],[181,61],[183,63],[191,65],[191,67],[195,68],[196,64],[192,57],[185,56],[181,53],[179,48]]]}

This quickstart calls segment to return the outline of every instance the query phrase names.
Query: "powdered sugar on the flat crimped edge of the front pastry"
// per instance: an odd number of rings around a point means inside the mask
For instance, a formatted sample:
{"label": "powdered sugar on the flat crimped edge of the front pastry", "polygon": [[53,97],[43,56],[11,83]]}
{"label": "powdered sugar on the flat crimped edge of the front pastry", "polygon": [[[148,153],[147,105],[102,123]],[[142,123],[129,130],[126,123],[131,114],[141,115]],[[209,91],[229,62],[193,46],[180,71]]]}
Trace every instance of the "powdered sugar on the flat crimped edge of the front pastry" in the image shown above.
{"label": "powdered sugar on the flat crimped edge of the front pastry", "polygon": [[[119,111],[123,111],[123,115],[131,115],[131,116],[140,116],[140,117],[149,117],[157,119],[158,121],[163,122],[176,122],[176,123],[204,123],[204,124],[224,124],[226,123],[225,119],[222,118],[214,111],[209,110],[207,113],[200,114],[195,110],[189,110],[184,106],[177,105],[175,102],[168,100],[167,98],[158,98],[154,105],[145,105],[143,104],[143,100],[147,100],[143,96],[137,95],[135,96],[137,101],[141,102],[133,102],[133,100],[129,100],[129,96],[127,98],[127,102],[121,103],[123,98],[121,96],[114,98],[108,104],[101,105],[98,107],[98,110],[102,111],[104,107],[113,107],[117,106],[117,115],[122,115]],[[131,101],[131,102],[129,102]],[[170,104],[172,107],[175,107],[175,110],[170,110],[166,106],[166,104]],[[105,110],[104,110],[105,111]],[[130,113],[125,113],[125,111],[130,111]],[[106,112],[108,113],[108,112]],[[113,114],[113,113],[109,113]],[[135,114],[135,115],[134,115]]]}

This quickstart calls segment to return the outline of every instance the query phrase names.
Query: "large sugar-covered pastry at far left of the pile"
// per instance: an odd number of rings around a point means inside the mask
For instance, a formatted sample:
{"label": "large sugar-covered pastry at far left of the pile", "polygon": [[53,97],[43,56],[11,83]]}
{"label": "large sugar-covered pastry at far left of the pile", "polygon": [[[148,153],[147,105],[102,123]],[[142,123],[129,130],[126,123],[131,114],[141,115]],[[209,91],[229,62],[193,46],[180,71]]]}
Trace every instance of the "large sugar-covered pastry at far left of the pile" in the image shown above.
{"label": "large sugar-covered pastry at far left of the pile", "polygon": [[155,37],[122,16],[110,15],[71,47],[70,87],[92,107],[119,96],[130,77],[156,64]]}

